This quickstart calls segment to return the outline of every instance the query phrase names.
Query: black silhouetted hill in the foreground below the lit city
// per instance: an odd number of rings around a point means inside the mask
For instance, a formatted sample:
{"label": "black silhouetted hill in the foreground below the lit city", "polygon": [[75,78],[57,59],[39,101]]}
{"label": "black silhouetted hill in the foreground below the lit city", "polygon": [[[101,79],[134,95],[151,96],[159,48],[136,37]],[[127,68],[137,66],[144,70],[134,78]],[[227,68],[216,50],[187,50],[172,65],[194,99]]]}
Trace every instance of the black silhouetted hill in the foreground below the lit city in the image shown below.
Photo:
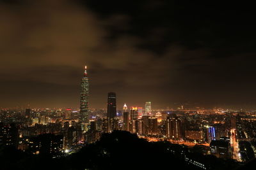
{"label": "black silhouetted hill in the foreground below the lit city", "polygon": [[[234,160],[202,155],[186,146],[161,141],[150,143],[125,131],[104,134],[96,143],[77,153],[52,159],[51,155],[31,155],[11,147],[0,148],[0,169],[204,169],[185,161],[195,160],[206,169],[237,169]],[[194,152],[195,151],[195,152]]]}

